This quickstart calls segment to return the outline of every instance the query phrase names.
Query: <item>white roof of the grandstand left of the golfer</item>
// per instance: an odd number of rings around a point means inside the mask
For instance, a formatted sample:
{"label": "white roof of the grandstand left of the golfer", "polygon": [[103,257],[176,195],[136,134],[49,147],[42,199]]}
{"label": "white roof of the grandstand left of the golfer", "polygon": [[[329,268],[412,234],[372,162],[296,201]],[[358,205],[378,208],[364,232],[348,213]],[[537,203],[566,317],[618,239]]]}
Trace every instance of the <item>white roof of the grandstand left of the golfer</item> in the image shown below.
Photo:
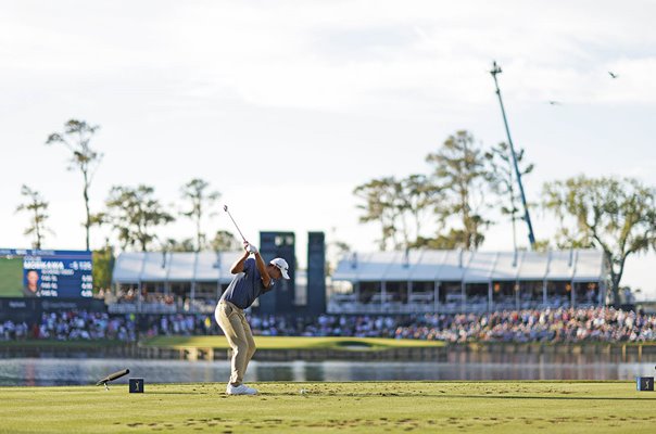
{"label": "white roof of the grandstand left of the golfer", "polygon": [[220,282],[232,280],[230,266],[241,252],[125,252],[114,263],[114,283]]}

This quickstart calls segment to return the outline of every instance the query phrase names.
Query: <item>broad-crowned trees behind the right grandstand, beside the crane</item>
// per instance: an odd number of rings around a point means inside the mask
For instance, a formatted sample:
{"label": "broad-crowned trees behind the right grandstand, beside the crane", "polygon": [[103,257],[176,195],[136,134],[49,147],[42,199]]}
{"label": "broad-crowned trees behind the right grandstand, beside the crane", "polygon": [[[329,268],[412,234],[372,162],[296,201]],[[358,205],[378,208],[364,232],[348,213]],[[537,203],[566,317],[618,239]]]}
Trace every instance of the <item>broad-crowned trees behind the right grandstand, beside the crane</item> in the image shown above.
{"label": "broad-crowned trees behind the right grandstand, beside the crane", "polygon": [[[509,146],[484,149],[466,130],[451,135],[426,156],[428,174],[402,179],[381,177],[357,186],[359,221],[379,228],[381,251],[406,248],[463,248],[476,251],[495,224],[494,210],[512,222],[523,220]],[[517,153],[519,173],[533,164]],[[540,201],[529,208],[555,217],[556,233],[539,240],[535,248],[597,248],[603,251],[614,299],[626,260],[633,254],[656,251],[656,189],[636,179],[583,175],[545,182]],[[428,229],[427,229],[428,228]]]}

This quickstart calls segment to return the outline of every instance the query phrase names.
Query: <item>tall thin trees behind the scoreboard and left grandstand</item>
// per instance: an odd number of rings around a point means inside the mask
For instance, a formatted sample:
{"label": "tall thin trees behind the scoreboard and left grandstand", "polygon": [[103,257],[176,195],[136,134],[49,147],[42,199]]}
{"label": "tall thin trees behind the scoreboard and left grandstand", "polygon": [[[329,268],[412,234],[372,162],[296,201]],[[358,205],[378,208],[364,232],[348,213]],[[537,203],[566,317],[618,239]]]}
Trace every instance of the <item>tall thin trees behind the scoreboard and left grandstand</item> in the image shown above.
{"label": "tall thin trees behind the scoreboard and left grandstand", "polygon": [[[229,231],[218,230],[212,237],[202,229],[205,217],[212,216],[220,193],[211,189],[203,179],[194,178],[180,188],[182,208],[167,209],[155,196],[152,186],[140,184],[113,186],[104,201],[104,209],[92,213],[89,206],[90,188],[96,170],[102,162],[103,154],[91,146],[91,139],[99,126],[85,120],[71,119],[62,131],[48,136],[46,144],[59,144],[70,153],[68,170],[81,175],[81,193],[85,205],[86,248],[90,250],[90,231],[92,227],[108,227],[116,235],[123,250],[133,248],[147,252],[150,248],[162,248],[177,252],[198,252],[205,248],[215,251],[237,250],[239,241]],[[26,213],[28,227],[25,234],[33,238],[33,247],[41,248],[48,233],[53,233],[47,226],[49,203],[41,194],[28,186],[23,186],[21,194],[24,202],[16,212]],[[160,239],[157,228],[176,221],[177,217],[189,218],[194,225],[193,238],[175,240]]]}

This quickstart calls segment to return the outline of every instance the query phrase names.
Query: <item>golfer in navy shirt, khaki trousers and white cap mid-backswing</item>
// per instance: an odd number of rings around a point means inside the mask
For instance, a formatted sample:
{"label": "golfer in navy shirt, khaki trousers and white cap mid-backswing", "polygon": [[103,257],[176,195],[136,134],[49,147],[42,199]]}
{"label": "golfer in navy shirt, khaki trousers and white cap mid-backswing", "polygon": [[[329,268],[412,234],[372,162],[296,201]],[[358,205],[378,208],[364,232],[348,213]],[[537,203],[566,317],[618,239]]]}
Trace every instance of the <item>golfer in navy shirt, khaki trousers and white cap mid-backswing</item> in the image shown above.
{"label": "golfer in navy shirt, khaki trousers and white cap mid-backswing", "polygon": [[244,241],[243,248],[244,254],[230,269],[230,272],[237,276],[222,295],[214,311],[214,318],[232,348],[230,382],[226,388],[228,395],[257,393],[253,387],[243,384],[247,367],[255,353],[255,341],[243,309],[250,307],[260,295],[274,290],[277,280],[289,279],[287,260],[275,258],[265,265],[253,244]]}

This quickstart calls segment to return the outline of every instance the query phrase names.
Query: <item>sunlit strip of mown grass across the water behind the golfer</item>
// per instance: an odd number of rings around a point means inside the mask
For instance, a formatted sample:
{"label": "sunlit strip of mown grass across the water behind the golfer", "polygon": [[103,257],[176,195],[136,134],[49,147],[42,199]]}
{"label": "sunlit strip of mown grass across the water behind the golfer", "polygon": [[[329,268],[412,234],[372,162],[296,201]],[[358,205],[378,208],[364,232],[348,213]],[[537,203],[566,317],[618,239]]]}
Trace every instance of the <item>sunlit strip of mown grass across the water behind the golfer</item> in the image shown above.
{"label": "sunlit strip of mown grass across the water behind the golfer", "polygon": [[[224,336],[157,336],[143,340],[142,345],[168,348],[228,348]],[[357,349],[383,350],[399,347],[444,346],[443,342],[394,340],[383,337],[305,337],[255,336],[258,349]]]}

